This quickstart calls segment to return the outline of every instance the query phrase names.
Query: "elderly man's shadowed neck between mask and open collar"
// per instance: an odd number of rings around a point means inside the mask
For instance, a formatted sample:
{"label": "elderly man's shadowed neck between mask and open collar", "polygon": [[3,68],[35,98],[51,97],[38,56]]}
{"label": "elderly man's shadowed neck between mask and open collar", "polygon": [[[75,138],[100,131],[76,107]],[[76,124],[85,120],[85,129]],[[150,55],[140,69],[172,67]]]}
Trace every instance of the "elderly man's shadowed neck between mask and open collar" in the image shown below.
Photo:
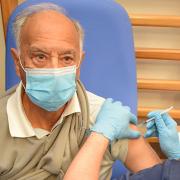
{"label": "elderly man's shadowed neck between mask and open collar", "polygon": [[45,129],[47,131],[51,131],[52,127],[61,117],[66,106],[64,105],[62,108],[55,112],[46,111],[32,103],[24,91],[22,92],[22,104],[25,114],[32,127]]}

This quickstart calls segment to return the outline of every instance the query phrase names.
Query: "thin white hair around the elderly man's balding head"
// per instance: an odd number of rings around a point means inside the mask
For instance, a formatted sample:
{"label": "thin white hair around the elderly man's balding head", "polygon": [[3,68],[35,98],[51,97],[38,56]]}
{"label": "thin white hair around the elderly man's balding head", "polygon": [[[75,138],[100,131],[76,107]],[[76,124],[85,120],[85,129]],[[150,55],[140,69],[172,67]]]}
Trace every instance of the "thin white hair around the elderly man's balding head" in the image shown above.
{"label": "thin white hair around the elderly man's balding head", "polygon": [[[53,10],[53,11],[59,12],[61,14],[64,14],[65,16],[67,16],[64,8],[62,8],[56,4],[53,4],[53,3],[39,3],[39,4],[31,5],[28,8],[24,9],[22,12],[20,12],[16,16],[16,18],[13,22],[13,33],[14,33],[14,37],[16,40],[16,46],[18,49],[20,48],[21,28],[23,27],[26,20],[33,14],[36,14],[36,13],[39,13],[39,12],[45,11],[45,10]],[[84,42],[84,30],[78,21],[71,19],[70,17],[68,17],[68,18],[73,22],[75,28],[77,29],[77,31],[79,33],[80,48],[82,50],[83,42]]]}

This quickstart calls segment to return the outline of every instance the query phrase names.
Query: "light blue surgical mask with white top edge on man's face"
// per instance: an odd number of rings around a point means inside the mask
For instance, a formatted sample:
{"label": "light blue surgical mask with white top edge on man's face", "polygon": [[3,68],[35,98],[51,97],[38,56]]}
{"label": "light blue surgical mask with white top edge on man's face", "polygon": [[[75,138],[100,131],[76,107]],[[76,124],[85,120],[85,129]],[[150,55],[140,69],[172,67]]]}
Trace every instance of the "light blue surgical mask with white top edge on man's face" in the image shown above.
{"label": "light blue surgical mask with white top edge on man's face", "polygon": [[57,111],[76,91],[76,66],[22,68],[26,72],[26,94],[34,104],[47,111]]}

